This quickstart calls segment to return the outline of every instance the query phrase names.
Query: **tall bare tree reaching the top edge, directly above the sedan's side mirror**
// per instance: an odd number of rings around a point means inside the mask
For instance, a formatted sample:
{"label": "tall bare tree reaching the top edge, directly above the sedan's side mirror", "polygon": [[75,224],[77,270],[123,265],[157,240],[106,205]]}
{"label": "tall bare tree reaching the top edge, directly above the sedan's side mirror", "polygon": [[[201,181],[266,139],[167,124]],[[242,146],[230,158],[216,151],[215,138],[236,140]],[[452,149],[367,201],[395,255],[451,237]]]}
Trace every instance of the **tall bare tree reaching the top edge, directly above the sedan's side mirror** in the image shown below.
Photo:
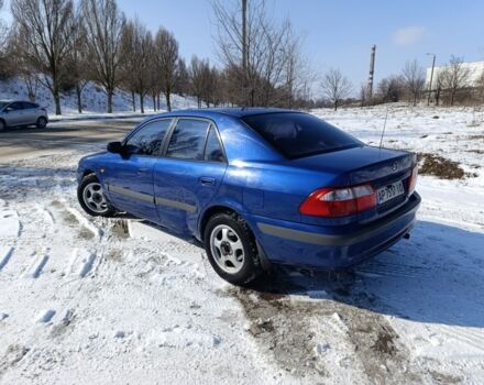
{"label": "tall bare tree reaching the top edge, directly above the sedan's side mirror", "polygon": [[112,97],[120,82],[120,45],[125,16],[116,0],[81,0],[80,7],[94,78],[105,88],[108,112],[112,112]]}

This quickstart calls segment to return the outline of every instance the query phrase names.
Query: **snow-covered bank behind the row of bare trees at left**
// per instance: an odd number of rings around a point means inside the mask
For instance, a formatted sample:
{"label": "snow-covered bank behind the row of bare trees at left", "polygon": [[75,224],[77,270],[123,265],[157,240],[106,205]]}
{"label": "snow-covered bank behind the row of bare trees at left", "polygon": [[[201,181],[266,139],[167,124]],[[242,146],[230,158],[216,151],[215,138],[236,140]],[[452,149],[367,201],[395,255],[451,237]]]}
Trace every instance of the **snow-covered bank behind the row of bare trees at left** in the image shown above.
{"label": "snow-covered bank behind the row of bare trees at left", "polygon": [[[28,90],[25,84],[21,78],[14,77],[8,80],[0,81],[0,100],[29,100]],[[140,97],[135,96],[136,99],[136,111],[140,114]],[[66,91],[62,94],[61,98],[61,109],[63,114],[55,116],[55,105],[52,94],[38,84],[36,90],[35,102],[40,106],[47,108],[50,119],[73,119],[79,118],[77,111],[77,96],[76,90]],[[127,116],[133,114],[131,94],[121,89],[117,89],[112,100],[112,114],[107,114],[107,98],[102,88],[94,82],[89,82],[82,91],[82,114],[81,117],[112,117],[112,116]],[[160,107],[162,110],[166,110],[166,101],[162,96],[160,99]],[[153,99],[148,96],[144,99],[144,107],[146,113],[153,113]],[[191,97],[182,97],[179,95],[172,95],[172,108],[173,109],[184,109],[184,108],[195,108],[197,107],[197,101]]]}

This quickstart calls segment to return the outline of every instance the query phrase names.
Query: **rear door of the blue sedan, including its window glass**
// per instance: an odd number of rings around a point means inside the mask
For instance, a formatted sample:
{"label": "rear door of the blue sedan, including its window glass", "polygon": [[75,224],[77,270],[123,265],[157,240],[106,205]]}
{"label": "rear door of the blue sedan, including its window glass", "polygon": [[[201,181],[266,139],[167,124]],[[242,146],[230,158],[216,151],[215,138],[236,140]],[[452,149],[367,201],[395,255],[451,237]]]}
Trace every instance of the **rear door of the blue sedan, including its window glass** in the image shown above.
{"label": "rear door of the blue sedan, including its window glass", "polygon": [[199,212],[220,186],[227,161],[217,128],[208,120],[179,118],[168,136],[165,156],[154,168],[160,222],[195,232]]}

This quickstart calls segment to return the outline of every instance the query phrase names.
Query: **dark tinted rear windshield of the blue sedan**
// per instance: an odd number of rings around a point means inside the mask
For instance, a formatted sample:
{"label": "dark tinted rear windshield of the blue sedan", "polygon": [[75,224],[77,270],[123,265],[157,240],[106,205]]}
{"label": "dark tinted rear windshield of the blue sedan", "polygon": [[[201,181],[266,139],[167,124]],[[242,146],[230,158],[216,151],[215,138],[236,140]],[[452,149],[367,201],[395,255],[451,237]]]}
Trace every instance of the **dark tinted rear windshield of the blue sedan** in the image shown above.
{"label": "dark tinted rear windshield of the blue sedan", "polygon": [[307,113],[264,113],[242,120],[292,160],[362,145],[355,138]]}

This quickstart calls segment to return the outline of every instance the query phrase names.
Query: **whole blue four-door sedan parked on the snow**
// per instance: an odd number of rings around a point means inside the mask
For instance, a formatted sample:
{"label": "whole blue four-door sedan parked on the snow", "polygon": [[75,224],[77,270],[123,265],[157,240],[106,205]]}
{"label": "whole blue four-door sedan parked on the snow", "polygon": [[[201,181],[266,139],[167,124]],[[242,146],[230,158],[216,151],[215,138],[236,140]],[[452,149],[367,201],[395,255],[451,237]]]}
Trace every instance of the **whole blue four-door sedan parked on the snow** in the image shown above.
{"label": "whole blue four-door sedan parked on the snow", "polygon": [[82,208],[193,235],[239,285],[271,263],[358,264],[408,237],[420,202],[414,154],[297,111],[162,113],[107,150],[79,162]]}

